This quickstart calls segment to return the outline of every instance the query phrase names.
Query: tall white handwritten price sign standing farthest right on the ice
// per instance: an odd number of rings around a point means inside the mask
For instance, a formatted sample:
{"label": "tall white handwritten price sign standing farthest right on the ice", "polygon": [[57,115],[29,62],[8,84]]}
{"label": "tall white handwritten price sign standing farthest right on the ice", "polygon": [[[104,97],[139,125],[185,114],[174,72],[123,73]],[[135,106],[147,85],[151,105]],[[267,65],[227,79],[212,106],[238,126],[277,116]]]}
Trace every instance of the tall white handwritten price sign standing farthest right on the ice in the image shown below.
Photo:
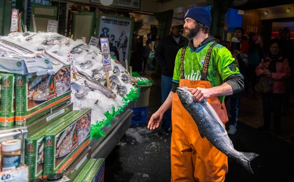
{"label": "tall white handwritten price sign standing farthest right on the ice", "polygon": [[102,52],[102,64],[103,64],[103,70],[105,71],[111,71],[111,60],[110,60],[110,50],[109,50],[109,41],[108,38],[102,37],[100,38],[100,44],[101,44],[101,52]]}

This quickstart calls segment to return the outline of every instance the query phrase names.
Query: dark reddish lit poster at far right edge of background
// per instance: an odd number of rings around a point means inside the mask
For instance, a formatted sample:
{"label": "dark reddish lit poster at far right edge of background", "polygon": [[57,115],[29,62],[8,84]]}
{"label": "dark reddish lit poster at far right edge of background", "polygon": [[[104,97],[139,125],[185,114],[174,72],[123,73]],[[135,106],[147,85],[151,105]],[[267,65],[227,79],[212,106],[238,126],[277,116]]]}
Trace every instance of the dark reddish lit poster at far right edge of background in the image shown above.
{"label": "dark reddish lit poster at far right edge of background", "polygon": [[273,22],[272,39],[280,39],[282,37],[294,40],[294,21]]}

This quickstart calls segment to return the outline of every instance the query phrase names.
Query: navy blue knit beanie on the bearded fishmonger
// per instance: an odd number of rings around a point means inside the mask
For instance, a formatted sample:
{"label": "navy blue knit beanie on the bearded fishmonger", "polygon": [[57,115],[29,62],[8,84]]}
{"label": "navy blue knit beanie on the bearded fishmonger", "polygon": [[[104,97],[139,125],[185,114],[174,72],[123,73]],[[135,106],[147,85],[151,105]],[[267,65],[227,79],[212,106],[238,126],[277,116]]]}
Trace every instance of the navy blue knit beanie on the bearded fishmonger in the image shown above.
{"label": "navy blue knit beanie on the bearded fishmonger", "polygon": [[184,19],[186,19],[187,17],[190,17],[190,18],[202,23],[204,26],[206,26],[208,28],[210,27],[211,15],[204,7],[190,8],[187,11]]}

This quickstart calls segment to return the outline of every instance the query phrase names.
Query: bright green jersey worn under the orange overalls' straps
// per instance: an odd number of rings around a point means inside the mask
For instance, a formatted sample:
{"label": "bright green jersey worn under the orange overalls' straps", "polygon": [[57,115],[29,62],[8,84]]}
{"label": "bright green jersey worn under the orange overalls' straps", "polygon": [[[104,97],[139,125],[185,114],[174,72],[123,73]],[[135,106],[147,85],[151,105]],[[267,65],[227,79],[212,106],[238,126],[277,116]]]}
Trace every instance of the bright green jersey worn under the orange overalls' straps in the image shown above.
{"label": "bright green jersey worn under the orange overalls' straps", "polygon": [[[191,81],[201,80],[205,56],[212,43],[208,42],[195,51],[187,47],[184,57],[185,79]],[[181,51],[182,49],[178,51],[174,64],[173,82],[175,83],[179,83],[181,78]],[[211,86],[221,85],[227,77],[235,74],[241,73],[231,52],[220,44],[215,45],[211,51],[207,74],[207,80],[211,83]],[[219,99],[222,102],[225,97],[219,97]]]}

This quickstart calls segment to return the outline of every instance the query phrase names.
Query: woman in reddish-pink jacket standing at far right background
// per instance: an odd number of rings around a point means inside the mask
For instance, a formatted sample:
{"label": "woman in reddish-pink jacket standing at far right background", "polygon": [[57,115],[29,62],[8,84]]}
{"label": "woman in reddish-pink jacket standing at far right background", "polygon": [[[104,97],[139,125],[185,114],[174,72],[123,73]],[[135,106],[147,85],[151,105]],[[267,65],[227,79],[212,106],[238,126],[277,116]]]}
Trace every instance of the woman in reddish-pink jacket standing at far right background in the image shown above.
{"label": "woman in reddish-pink jacket standing at far right background", "polygon": [[287,58],[280,54],[280,44],[274,39],[270,43],[270,52],[261,59],[256,67],[256,75],[273,79],[273,92],[261,93],[263,125],[259,130],[268,130],[271,124],[271,110],[274,109],[274,126],[276,134],[280,134],[281,108],[283,94],[286,91],[286,78],[290,76],[290,66]]}

